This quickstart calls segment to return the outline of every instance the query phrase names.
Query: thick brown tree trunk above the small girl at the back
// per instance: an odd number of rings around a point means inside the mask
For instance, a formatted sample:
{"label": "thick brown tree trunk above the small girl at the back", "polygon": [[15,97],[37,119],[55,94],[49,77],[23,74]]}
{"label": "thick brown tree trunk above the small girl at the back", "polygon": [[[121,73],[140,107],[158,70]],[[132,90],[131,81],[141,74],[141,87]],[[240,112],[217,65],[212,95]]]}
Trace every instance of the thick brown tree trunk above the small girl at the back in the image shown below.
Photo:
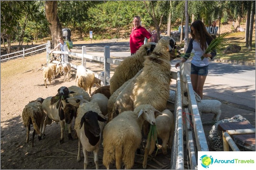
{"label": "thick brown tree trunk above the small girl at the back", "polygon": [[57,15],[57,8],[57,1],[45,1],[45,15],[47,21],[50,23],[49,27],[52,35],[53,48],[58,45],[58,38],[63,36],[62,27]]}

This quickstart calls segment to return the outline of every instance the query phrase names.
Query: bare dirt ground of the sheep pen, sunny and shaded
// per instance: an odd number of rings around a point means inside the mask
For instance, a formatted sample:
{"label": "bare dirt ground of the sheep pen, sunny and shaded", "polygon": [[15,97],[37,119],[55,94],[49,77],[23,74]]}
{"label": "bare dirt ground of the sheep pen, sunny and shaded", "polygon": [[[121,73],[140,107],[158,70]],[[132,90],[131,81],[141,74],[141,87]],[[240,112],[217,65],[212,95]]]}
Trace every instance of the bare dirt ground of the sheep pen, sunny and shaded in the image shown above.
{"label": "bare dirt ground of the sheep pen, sunny and shaded", "polygon": [[[76,162],[78,140],[68,140],[65,132],[64,143],[59,144],[60,124],[55,122],[46,126],[46,137],[38,141],[35,135],[34,147],[26,141],[26,128],[22,121],[22,111],[26,104],[36,98],[54,96],[61,86],[75,85],[75,71],[70,76],[70,82],[64,82],[63,76],[52,80],[52,85],[45,88],[43,82],[42,65],[46,65],[46,53],[36,56],[15,59],[1,63],[1,169],[83,169],[82,161]],[[36,62],[35,62],[36,61]],[[88,64],[89,65],[89,62]],[[47,81],[48,83],[48,81]],[[74,127],[75,120],[72,122]],[[75,131],[72,131],[74,137]],[[134,169],[142,169],[144,152],[136,155]],[[81,152],[81,157],[83,153]],[[89,156],[93,156],[90,152]],[[102,164],[103,147],[99,153],[99,168],[106,169]],[[148,169],[170,166],[171,153],[163,155],[158,151],[155,159],[148,161]],[[89,158],[88,169],[95,169],[95,163]],[[156,162],[161,162],[158,165]],[[149,167],[151,166],[151,167]],[[110,166],[115,169],[115,164]],[[124,167],[123,167],[124,168]]]}

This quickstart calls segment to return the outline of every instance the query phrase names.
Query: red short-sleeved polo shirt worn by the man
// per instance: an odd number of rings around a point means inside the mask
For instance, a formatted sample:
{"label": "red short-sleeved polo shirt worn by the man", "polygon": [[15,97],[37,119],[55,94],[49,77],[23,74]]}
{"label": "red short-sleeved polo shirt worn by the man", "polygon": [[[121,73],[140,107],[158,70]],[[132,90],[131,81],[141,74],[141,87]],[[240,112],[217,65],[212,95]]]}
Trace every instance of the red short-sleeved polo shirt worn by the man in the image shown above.
{"label": "red short-sleeved polo shirt worn by the man", "polygon": [[146,28],[139,26],[138,28],[132,28],[130,35],[130,48],[131,53],[136,53],[140,46],[144,44],[145,37],[149,39],[152,35],[146,30]]}

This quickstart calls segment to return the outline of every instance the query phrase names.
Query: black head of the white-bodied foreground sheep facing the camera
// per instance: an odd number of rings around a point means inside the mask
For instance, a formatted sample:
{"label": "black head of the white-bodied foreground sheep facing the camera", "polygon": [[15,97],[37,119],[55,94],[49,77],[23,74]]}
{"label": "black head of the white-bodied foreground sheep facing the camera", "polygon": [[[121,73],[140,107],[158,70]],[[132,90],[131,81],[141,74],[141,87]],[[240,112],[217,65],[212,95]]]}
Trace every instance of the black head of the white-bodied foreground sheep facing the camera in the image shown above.
{"label": "black head of the white-bodied foreground sheep facing the camera", "polygon": [[98,121],[106,122],[107,120],[90,110],[82,116],[80,122],[80,129],[84,126],[84,133],[92,146],[95,146],[100,139],[101,129]]}

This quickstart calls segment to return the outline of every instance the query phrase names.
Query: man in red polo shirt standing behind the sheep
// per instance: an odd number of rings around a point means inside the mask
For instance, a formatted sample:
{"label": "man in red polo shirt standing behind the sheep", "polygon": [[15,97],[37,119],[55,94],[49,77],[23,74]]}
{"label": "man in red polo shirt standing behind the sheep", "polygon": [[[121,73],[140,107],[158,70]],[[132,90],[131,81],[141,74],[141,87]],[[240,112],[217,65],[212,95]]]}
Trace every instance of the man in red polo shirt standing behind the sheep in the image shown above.
{"label": "man in red polo shirt standing behind the sheep", "polygon": [[151,42],[152,35],[146,30],[146,28],[140,26],[140,17],[135,16],[133,18],[134,27],[130,35],[130,48],[131,55],[135,54],[140,46],[144,44],[145,37],[147,42]]}

